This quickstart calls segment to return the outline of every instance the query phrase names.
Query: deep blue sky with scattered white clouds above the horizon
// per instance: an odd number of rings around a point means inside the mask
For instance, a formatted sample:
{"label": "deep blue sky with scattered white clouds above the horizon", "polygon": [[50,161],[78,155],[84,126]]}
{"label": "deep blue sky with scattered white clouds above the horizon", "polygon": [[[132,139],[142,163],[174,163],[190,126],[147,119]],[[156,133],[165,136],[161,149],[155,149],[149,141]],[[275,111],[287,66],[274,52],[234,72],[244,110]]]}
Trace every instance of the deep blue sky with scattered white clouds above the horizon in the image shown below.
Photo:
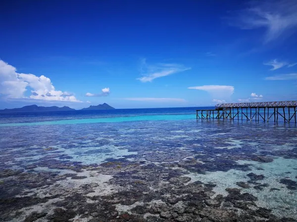
{"label": "deep blue sky with scattered white clouds above the horizon", "polygon": [[296,0],[3,0],[0,109],[297,100]]}

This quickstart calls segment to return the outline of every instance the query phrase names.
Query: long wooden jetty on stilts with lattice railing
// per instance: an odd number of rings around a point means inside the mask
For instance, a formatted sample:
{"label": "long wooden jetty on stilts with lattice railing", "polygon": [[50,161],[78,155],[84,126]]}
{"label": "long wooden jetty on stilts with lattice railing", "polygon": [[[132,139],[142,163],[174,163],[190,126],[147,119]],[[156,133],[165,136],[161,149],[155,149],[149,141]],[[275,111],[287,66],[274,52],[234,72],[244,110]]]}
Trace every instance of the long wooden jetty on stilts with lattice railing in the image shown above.
{"label": "long wooden jetty on stilts with lattice railing", "polygon": [[[297,101],[257,102],[257,103],[224,103],[217,104],[215,109],[197,110],[197,119],[237,119],[278,122],[295,121]],[[260,119],[261,118],[261,119]]]}

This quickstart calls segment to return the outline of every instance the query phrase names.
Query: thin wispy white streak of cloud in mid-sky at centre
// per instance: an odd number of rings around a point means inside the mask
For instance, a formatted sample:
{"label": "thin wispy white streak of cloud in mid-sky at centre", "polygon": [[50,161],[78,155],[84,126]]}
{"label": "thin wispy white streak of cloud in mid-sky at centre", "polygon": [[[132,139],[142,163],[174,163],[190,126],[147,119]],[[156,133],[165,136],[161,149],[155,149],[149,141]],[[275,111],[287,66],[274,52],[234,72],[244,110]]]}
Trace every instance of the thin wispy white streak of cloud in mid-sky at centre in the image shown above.
{"label": "thin wispy white streak of cloud in mid-sky at centre", "polygon": [[146,59],[142,60],[141,74],[143,77],[137,78],[141,82],[151,82],[155,78],[164,77],[166,75],[175,74],[190,70],[183,65],[173,63],[160,63],[156,65],[148,65]]}

